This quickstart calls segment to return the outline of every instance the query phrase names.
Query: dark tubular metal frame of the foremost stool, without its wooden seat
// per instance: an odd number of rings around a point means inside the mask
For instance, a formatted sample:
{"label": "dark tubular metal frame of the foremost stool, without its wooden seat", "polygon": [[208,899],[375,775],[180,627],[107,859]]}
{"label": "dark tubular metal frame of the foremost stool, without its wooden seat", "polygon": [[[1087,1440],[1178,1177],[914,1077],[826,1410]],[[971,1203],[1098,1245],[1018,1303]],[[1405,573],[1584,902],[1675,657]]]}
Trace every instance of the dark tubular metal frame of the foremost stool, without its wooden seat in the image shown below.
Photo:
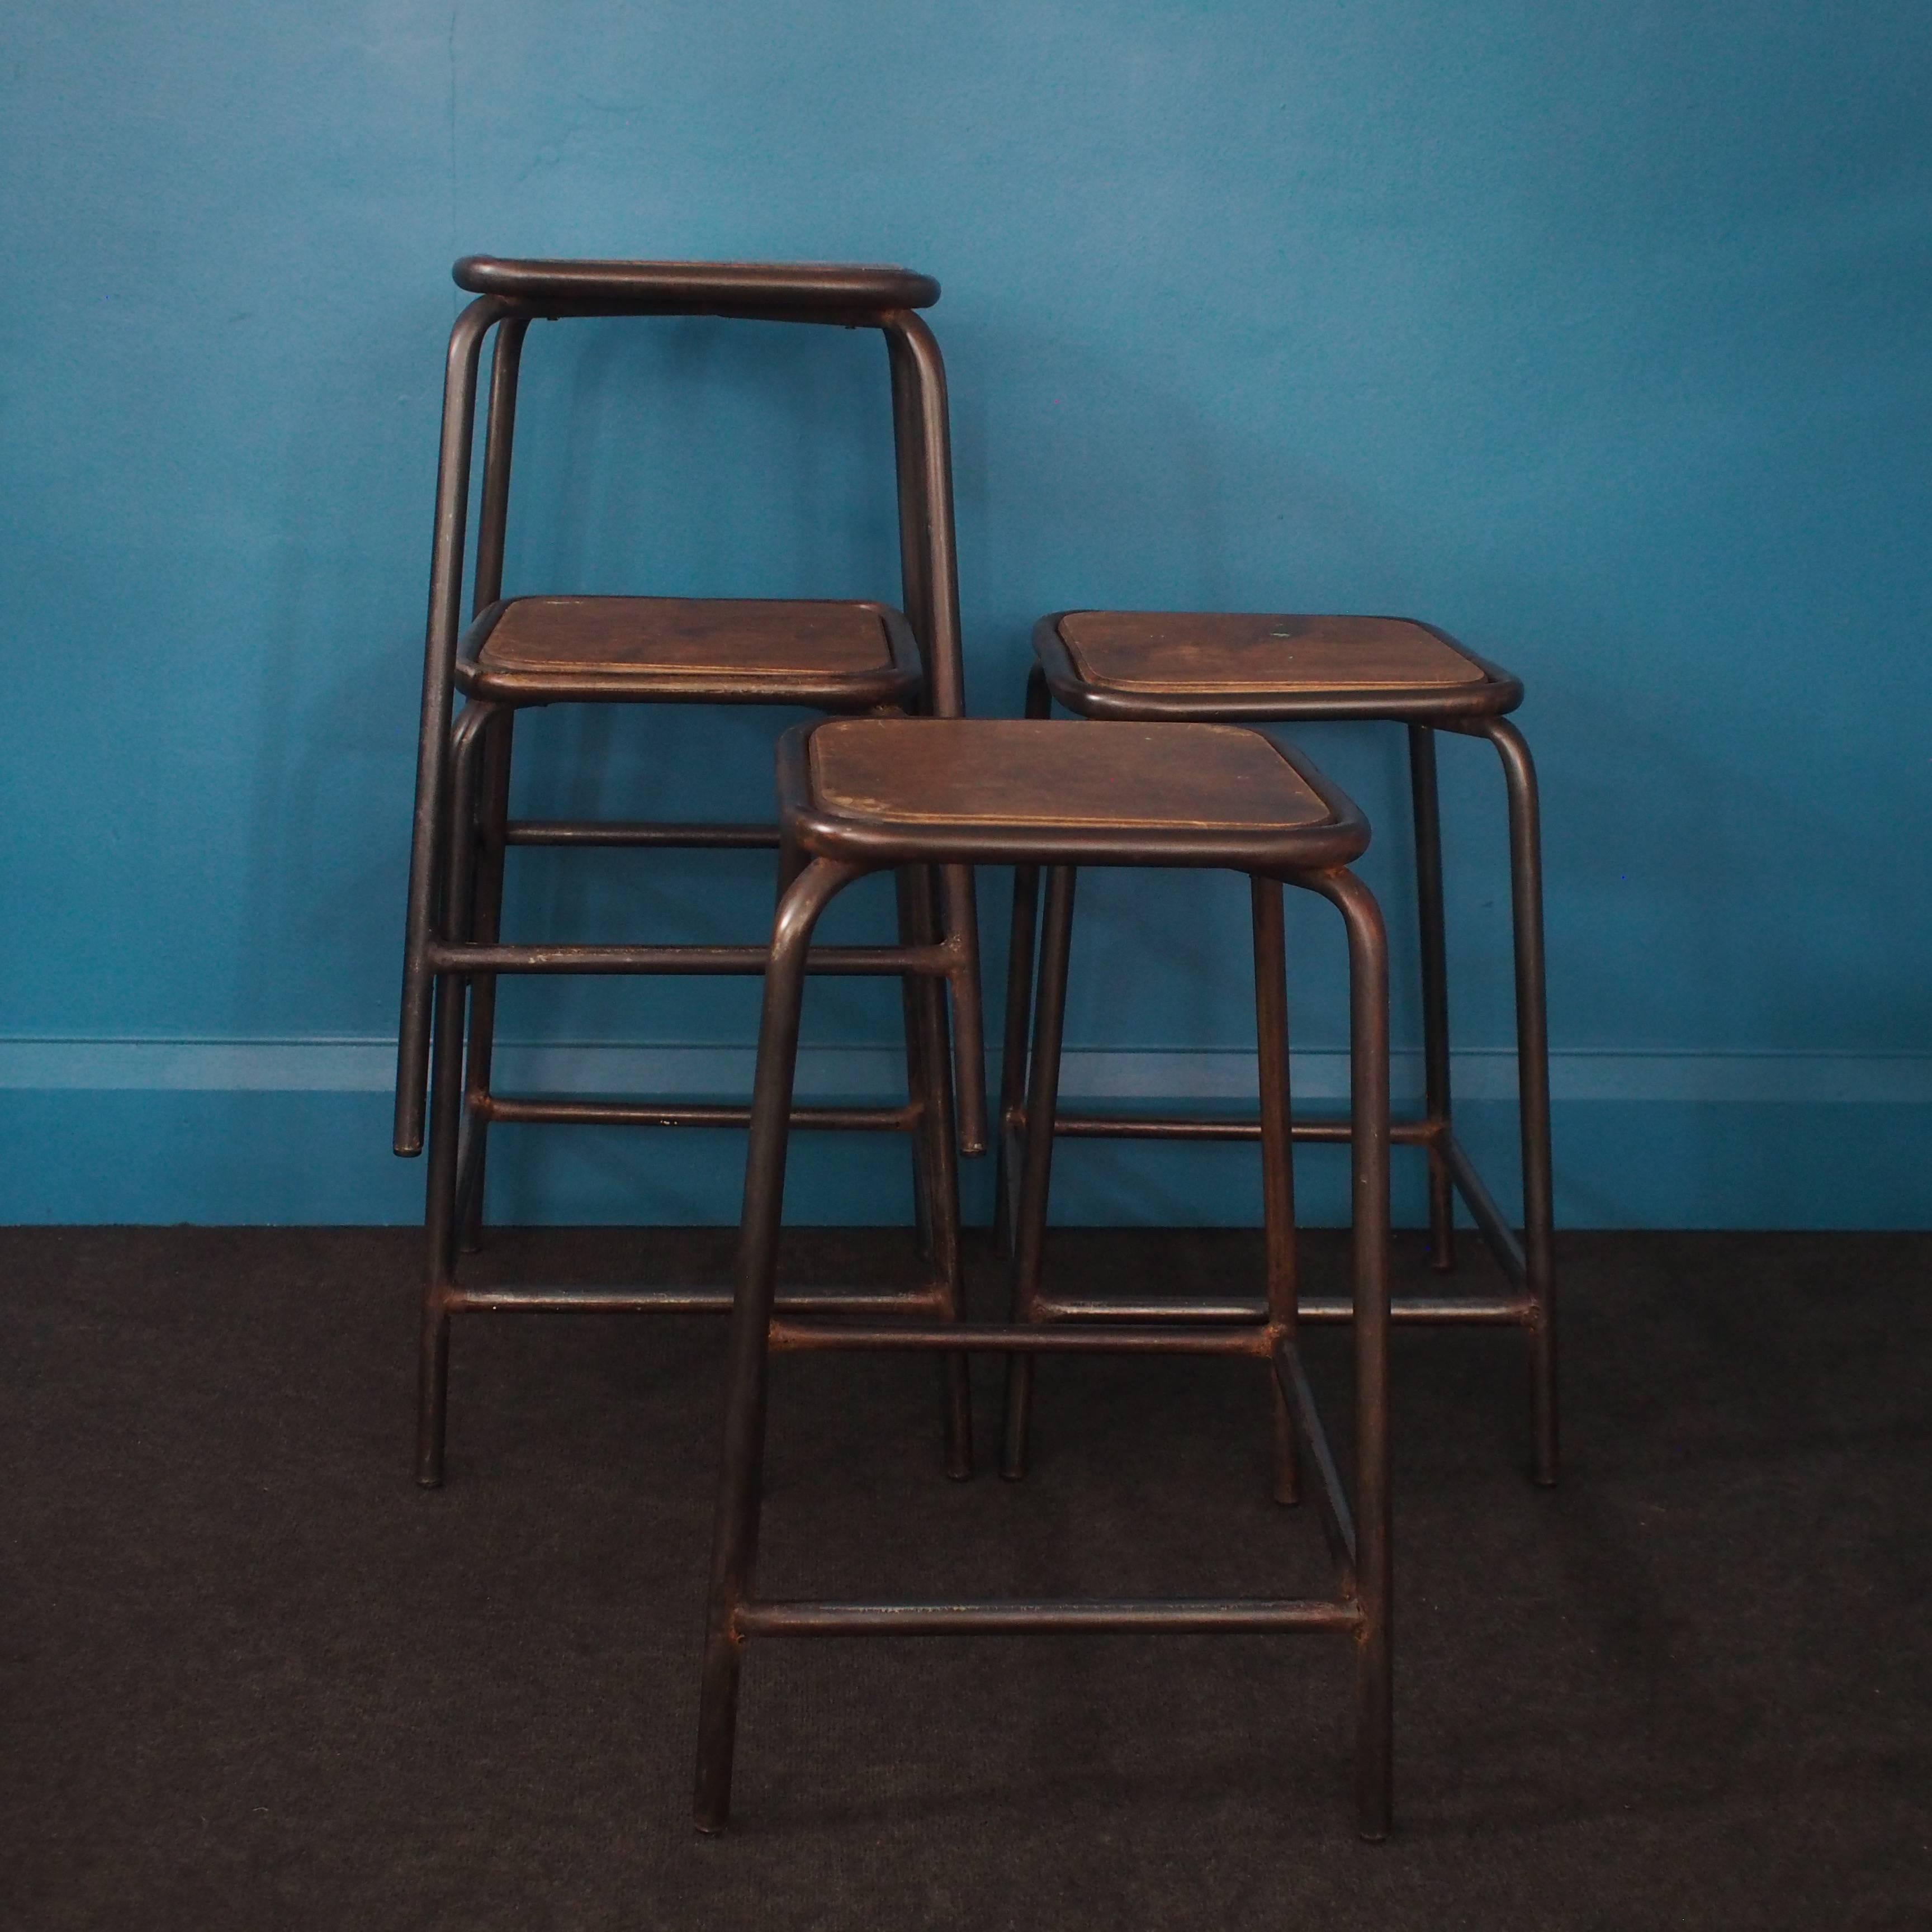
{"label": "dark tubular metal frame of the foremost stool, without its wooden seat", "polygon": [[[781,742],[781,810],[792,821],[790,800],[804,786],[802,746],[810,726]],[[1331,786],[1306,765],[1296,765],[1325,796]],[[1356,1714],[1356,1824],[1364,1837],[1379,1839],[1391,1824],[1393,1776],[1393,1652],[1391,1652],[1391,1513],[1389,1513],[1389,1009],[1387,939],[1381,912],[1370,891],[1337,862],[1360,852],[1366,825],[1341,802],[1343,823],[1327,827],[1327,854],[1310,852],[1306,869],[1256,867],[1252,877],[1258,910],[1256,1012],[1260,1034],[1260,1090],[1264,1134],[1264,1206],[1267,1221],[1267,1298],[1242,1320],[1209,1320],[1186,1325],[1055,1327],[1032,1320],[1037,1308],[1039,1233],[1047,1217],[1051,1134],[1034,1136],[1020,1180],[1020,1242],[1012,1260],[1014,1318],[999,1325],[902,1325],[858,1320],[802,1323],[790,1318],[775,1293],[777,1242],[784,1196],[784,1159],[792,1113],[792,1078],[798,1055],[804,980],[810,972],[811,929],[831,900],[856,879],[889,864],[904,864],[922,840],[937,846],[947,833],[937,827],[895,825],[871,850],[858,840],[813,837],[813,852],[779,904],[765,974],[757,1076],[752,1099],[752,1136],[746,1155],[744,1219],[738,1248],[738,1293],[732,1308],[723,1468],[711,1557],[711,1594],[703,1654],[696,1824],[699,1832],[724,1830],[730,1816],[732,1754],[736,1741],[738,1687],[744,1646],[753,1636],[844,1634],[1022,1634],[1065,1631],[1171,1631],[1256,1633],[1337,1631],[1354,1644]],[[1111,866],[1238,864],[1227,850],[1213,852],[1200,837],[1188,856],[1182,840],[1140,842],[1130,831],[1074,833],[1055,827],[1061,850],[1041,858],[1041,837],[1014,838],[1001,854],[985,837],[960,840],[945,858],[978,864],[1020,860],[1049,864],[1047,952],[1036,1018],[1032,1084],[1037,1119],[1051,1119],[1059,1063],[1059,1022],[1065,976],[1051,958],[1065,952],[1072,918],[1074,862]],[[1335,833],[1352,837],[1352,850]],[[1356,1364],[1356,1484],[1350,1501],[1308,1393],[1296,1350],[1293,1177],[1289,1171],[1289,1092],[1285,1045],[1285,978],[1281,952],[1281,885],[1291,883],[1327,898],[1343,918],[1349,939],[1350,1080],[1354,1107],[1352,1206],[1354,1206],[1354,1364]],[[1271,910],[1269,910],[1271,908]],[[1157,1310],[1151,1318],[1165,1318]],[[1150,1318],[1150,1320],[1151,1320]],[[1030,1364],[1053,1352],[1155,1352],[1227,1354],[1269,1364],[1285,1428],[1277,1492],[1294,1493],[1294,1443],[1314,1472],[1316,1501],[1329,1542],[1337,1588],[1331,1598],[1289,1600],[1063,1600],[1063,1602],[784,1602],[755,1594],[755,1553],[765,1451],[769,1358],[773,1350],[823,1349],[931,1349],[956,1358],[956,1350],[995,1350]],[[1018,1410],[1009,1408],[1009,1422]]]}

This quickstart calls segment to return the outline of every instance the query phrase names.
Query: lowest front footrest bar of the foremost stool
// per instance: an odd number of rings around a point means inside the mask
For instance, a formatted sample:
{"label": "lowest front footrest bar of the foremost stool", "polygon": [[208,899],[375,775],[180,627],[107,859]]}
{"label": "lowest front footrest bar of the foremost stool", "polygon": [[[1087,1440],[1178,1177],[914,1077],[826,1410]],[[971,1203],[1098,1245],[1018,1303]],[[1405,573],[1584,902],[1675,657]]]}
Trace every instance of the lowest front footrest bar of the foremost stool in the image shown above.
{"label": "lowest front footrest bar of the foremost stool", "polygon": [[1026,1636],[1049,1631],[1352,1631],[1362,1611],[1325,1598],[1090,1598],[956,1604],[740,1604],[740,1636]]}

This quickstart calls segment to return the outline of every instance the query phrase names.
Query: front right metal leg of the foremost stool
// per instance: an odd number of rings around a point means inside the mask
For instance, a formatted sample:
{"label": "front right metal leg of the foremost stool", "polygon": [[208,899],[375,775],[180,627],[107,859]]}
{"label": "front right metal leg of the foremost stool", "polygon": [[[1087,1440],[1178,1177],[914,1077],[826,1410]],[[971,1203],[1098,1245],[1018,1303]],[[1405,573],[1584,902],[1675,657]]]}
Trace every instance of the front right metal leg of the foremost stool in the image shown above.
{"label": "front right metal leg of the foremost stool", "polygon": [[1395,1673],[1389,1613],[1389,951],[1374,895],[1349,871],[1320,891],[1349,931],[1349,1084],[1354,1136],[1356,1602],[1354,1803],[1362,1837],[1389,1835]]}

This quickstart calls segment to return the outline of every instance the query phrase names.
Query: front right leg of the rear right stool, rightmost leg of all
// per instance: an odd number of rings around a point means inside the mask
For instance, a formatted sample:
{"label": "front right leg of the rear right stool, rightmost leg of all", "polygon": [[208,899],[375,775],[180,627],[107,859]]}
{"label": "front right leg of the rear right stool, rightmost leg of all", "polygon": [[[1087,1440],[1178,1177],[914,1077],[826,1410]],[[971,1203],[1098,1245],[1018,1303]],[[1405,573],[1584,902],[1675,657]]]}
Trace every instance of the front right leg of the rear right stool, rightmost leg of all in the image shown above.
{"label": "front right leg of the rear right stool, rightmost leg of all", "polygon": [[1549,1012],[1544,997],[1544,850],[1536,765],[1522,732],[1490,719],[1509,794],[1509,904],[1517,943],[1517,1095],[1522,1111],[1522,1264],[1530,1329],[1530,1474],[1557,1480],[1555,1200],[1549,1159]]}

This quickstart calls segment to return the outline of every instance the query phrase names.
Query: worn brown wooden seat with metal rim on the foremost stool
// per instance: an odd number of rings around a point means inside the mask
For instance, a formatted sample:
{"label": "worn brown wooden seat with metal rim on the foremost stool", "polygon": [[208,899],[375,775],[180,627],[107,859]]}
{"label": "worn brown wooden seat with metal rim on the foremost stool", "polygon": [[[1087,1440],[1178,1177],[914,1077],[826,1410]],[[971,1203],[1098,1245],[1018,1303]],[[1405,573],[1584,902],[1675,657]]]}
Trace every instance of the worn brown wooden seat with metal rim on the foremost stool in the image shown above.
{"label": "worn brown wooden seat with metal rim on the foremost stool", "polygon": [[1341,866],[1354,806],[1296,753],[1229,724],[835,719],[788,732],[779,802],[827,858]]}

